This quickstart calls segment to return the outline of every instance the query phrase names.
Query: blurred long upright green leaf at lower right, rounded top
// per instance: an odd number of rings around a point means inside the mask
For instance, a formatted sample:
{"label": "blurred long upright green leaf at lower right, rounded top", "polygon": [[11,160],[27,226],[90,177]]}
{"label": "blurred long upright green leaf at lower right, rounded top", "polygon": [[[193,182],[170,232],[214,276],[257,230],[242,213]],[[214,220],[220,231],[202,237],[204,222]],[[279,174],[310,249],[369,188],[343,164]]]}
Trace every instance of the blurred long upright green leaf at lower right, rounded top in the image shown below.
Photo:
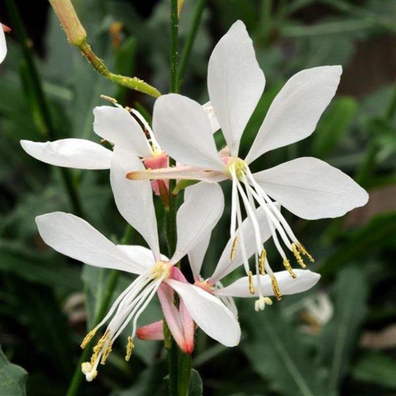
{"label": "blurred long upright green leaf at lower right, rounded top", "polygon": [[366,312],[364,274],[349,267],[340,271],[335,286],[335,315],[321,333],[319,361],[329,367],[328,390],[336,392],[347,374],[358,331]]}

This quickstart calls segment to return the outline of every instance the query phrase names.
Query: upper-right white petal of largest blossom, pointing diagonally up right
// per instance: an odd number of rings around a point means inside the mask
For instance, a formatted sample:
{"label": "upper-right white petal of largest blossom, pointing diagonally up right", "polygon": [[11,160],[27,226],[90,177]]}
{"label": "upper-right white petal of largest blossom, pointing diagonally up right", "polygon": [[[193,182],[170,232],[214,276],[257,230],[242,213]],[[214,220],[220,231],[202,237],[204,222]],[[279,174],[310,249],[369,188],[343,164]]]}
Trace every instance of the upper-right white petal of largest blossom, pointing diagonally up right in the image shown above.
{"label": "upper-right white petal of largest blossom, pointing diagonally up right", "polygon": [[342,72],[341,66],[320,66],[290,78],[271,103],[246,156],[247,163],[309,136],[334,97]]}

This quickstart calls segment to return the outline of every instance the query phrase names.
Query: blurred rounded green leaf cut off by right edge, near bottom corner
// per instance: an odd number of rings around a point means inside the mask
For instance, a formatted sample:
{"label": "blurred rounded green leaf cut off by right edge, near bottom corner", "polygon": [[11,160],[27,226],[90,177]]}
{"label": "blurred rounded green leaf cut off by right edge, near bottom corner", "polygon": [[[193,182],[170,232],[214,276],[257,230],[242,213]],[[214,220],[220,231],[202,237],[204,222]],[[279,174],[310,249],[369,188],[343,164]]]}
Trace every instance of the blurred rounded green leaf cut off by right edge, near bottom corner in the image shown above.
{"label": "blurred rounded green leaf cut off by right edge, near bottom corner", "polygon": [[396,362],[393,357],[381,352],[365,354],[352,371],[357,381],[396,389]]}

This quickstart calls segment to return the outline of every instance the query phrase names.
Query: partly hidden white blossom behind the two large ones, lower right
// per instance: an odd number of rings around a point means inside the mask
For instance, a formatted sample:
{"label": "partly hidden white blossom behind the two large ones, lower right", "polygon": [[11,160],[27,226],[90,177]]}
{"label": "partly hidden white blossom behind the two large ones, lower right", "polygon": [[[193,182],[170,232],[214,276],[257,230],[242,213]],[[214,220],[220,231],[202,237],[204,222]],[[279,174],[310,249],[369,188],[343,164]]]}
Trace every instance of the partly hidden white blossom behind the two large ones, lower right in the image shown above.
{"label": "partly hidden white blossom behind the two large ones, lower right", "polygon": [[[186,190],[185,198],[190,199],[191,192]],[[271,229],[265,215],[265,211],[260,207],[256,209],[256,217],[260,227],[260,235],[265,243],[271,237]],[[245,219],[242,227],[236,231],[238,238],[245,240],[242,248],[234,253],[234,259],[230,261],[230,255],[233,250],[233,240],[230,239],[224,248],[220,259],[213,274],[203,279],[200,275],[202,262],[206,250],[209,246],[211,230],[202,234],[199,242],[188,252],[191,270],[194,275],[194,285],[201,288],[208,294],[219,298],[237,317],[238,311],[233,297],[255,297],[254,308],[256,311],[263,310],[266,304],[272,304],[269,296],[281,297],[279,290],[283,295],[292,295],[312,288],[320,279],[320,275],[309,270],[295,270],[296,278],[290,277],[288,271],[276,273],[252,275],[242,277],[233,282],[231,285],[223,287],[222,280],[236,268],[241,265],[247,266],[247,259],[255,252],[254,229]],[[273,288],[273,278],[277,280],[276,289]],[[246,285],[249,285],[249,288]],[[138,330],[138,337],[143,340],[162,340],[162,321],[144,326]]]}

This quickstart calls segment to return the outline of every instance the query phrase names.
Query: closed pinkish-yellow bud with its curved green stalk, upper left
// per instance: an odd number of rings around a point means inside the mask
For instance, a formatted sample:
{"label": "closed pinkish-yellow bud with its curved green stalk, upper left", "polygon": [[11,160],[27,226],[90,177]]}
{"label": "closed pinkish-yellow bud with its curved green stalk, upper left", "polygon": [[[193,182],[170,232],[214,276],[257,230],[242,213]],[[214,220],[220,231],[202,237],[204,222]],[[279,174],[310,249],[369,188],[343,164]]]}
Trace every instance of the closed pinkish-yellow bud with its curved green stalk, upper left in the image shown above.
{"label": "closed pinkish-yellow bud with its curved green stalk, upper left", "polygon": [[87,33],[70,0],[49,0],[56,16],[59,19],[67,37],[67,41],[80,49],[94,69],[108,80],[123,87],[142,92],[154,98],[161,93],[155,88],[139,79],[138,77],[127,77],[112,73],[104,62],[95,54],[87,41]]}

